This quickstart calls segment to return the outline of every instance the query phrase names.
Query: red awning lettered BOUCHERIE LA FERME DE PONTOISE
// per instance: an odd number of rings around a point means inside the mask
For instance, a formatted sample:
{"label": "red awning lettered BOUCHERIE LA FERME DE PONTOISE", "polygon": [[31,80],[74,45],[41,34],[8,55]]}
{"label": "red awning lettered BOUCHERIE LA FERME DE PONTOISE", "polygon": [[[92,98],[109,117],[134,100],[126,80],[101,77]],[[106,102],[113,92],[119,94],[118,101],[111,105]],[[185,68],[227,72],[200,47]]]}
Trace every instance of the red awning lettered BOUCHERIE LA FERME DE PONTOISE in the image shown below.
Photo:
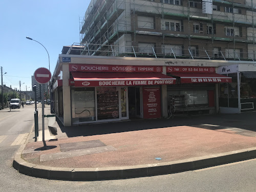
{"label": "red awning lettered BOUCHERIE LA FERME DE PONTOISE", "polygon": [[176,78],[161,73],[71,72],[71,74],[74,80],[70,81],[70,86],[75,87],[154,86],[176,83]]}

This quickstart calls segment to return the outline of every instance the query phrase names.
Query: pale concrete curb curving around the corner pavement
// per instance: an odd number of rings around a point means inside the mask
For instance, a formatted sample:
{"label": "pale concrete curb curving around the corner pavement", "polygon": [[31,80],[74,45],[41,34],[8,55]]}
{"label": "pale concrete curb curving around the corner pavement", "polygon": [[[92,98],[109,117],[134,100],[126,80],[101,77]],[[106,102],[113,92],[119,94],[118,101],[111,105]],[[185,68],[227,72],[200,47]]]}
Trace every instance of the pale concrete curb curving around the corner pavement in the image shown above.
{"label": "pale concrete curb curving around the corner pavement", "polygon": [[173,174],[256,158],[256,147],[179,161],[100,168],[61,168],[35,165],[21,158],[25,144],[20,146],[13,160],[19,173],[32,177],[59,180],[108,180]]}

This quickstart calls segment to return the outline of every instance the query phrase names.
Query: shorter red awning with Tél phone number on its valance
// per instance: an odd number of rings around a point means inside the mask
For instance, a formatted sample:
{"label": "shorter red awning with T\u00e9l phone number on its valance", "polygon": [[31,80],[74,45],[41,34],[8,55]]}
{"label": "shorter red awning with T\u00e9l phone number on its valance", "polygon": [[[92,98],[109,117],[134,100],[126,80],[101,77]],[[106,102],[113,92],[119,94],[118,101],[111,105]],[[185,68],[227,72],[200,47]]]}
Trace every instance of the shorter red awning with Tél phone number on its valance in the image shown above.
{"label": "shorter red awning with T\u00e9l phone number on its valance", "polygon": [[232,82],[231,77],[217,73],[172,73],[173,77],[180,77],[181,83],[218,83]]}

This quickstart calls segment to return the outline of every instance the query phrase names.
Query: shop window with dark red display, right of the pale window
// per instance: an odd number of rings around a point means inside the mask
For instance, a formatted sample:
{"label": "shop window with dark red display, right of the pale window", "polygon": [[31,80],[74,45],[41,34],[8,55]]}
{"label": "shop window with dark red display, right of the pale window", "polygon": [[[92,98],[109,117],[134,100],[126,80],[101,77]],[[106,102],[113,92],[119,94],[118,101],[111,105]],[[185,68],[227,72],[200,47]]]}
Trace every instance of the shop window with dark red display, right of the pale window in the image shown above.
{"label": "shop window with dark red display, right of the pale window", "polygon": [[97,88],[98,120],[119,118],[119,99],[116,87]]}

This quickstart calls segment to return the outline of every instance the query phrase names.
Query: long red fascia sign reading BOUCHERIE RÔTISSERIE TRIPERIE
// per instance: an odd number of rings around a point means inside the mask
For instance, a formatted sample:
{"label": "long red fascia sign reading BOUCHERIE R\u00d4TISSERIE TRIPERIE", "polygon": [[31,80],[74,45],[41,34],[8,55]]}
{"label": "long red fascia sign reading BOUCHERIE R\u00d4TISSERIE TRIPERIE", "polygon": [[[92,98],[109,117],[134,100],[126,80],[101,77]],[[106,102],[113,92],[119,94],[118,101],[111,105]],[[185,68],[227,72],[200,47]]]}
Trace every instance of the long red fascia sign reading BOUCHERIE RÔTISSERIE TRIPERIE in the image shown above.
{"label": "long red fascia sign reading BOUCHERIE R\u00d4TISSERIE TRIPERIE", "polygon": [[120,65],[92,65],[69,64],[71,72],[126,72],[126,73],[162,73],[162,66],[120,66]]}

